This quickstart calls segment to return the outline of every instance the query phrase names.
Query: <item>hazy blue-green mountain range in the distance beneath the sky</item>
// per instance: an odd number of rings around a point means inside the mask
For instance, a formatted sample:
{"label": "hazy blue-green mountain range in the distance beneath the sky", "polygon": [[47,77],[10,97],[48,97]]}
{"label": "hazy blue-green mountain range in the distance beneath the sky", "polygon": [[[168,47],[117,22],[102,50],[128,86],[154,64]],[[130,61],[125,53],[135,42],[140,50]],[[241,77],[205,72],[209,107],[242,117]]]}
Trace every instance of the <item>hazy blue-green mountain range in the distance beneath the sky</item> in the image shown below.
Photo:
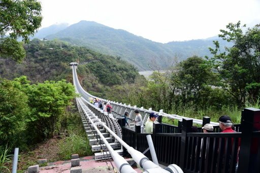
{"label": "hazy blue-green mountain range in the distance beneath the sky", "polygon": [[164,69],[168,65],[168,60],[174,57],[183,60],[193,55],[211,56],[208,48],[214,48],[213,40],[220,42],[222,50],[225,46],[232,46],[216,36],[162,44],[93,21],[80,21],[70,26],[68,24],[51,25],[40,29],[34,37],[48,40],[60,39],[75,46],[84,46],[96,52],[126,60],[139,70],[149,70],[155,65],[157,68]]}

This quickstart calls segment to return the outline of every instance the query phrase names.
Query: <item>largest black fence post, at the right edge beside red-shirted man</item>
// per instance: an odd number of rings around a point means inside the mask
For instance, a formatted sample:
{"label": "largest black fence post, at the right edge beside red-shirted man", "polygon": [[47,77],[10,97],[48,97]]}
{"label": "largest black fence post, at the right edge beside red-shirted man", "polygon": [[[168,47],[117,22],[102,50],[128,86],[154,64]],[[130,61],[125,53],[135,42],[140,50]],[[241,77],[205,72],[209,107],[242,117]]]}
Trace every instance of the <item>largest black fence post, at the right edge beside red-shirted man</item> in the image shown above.
{"label": "largest black fence post, at the right edge beside red-shirted man", "polygon": [[[241,145],[239,153],[238,172],[259,172],[259,160],[257,162],[257,147],[259,142],[252,138],[253,131],[260,130],[260,109],[244,108],[241,116]],[[258,145],[257,145],[258,143]],[[255,146],[254,146],[255,145]],[[255,153],[256,147],[256,153]],[[258,148],[258,150],[260,150]],[[259,151],[258,151],[259,152]],[[258,166],[258,167],[257,167]]]}

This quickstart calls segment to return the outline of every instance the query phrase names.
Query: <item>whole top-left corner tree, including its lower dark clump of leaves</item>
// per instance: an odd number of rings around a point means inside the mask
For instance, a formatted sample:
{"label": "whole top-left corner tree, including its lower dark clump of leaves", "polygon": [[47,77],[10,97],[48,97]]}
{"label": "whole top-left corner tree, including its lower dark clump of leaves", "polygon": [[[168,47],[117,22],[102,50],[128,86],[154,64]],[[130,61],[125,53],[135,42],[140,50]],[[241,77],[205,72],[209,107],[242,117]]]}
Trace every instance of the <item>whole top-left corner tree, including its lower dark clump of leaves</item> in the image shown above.
{"label": "whole top-left corner tree, including its lower dark clump of leaves", "polygon": [[0,1],[0,56],[18,62],[25,57],[22,44],[16,39],[29,41],[29,35],[41,26],[41,11],[37,0]]}

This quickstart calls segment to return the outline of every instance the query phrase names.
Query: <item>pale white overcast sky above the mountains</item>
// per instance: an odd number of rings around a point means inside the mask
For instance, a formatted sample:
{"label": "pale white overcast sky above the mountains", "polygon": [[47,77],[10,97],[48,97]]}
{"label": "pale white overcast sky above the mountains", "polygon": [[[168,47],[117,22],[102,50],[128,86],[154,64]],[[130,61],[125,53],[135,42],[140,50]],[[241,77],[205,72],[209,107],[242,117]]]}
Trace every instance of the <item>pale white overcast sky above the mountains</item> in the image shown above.
{"label": "pale white overcast sky above the mountains", "polygon": [[156,42],[216,36],[229,23],[260,23],[260,0],[39,0],[42,27],[81,20]]}

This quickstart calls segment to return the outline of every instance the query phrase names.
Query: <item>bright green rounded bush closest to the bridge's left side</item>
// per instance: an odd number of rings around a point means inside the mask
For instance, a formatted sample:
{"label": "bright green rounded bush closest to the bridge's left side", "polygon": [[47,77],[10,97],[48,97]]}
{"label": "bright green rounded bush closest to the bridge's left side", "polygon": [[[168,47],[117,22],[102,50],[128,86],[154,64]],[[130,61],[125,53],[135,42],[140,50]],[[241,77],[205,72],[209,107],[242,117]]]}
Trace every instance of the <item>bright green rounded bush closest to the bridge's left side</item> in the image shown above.
{"label": "bright green rounded bush closest to the bridge's left side", "polygon": [[45,81],[31,85],[27,94],[32,108],[30,123],[34,124],[37,137],[53,137],[60,128],[66,106],[75,97],[74,86],[65,80]]}

